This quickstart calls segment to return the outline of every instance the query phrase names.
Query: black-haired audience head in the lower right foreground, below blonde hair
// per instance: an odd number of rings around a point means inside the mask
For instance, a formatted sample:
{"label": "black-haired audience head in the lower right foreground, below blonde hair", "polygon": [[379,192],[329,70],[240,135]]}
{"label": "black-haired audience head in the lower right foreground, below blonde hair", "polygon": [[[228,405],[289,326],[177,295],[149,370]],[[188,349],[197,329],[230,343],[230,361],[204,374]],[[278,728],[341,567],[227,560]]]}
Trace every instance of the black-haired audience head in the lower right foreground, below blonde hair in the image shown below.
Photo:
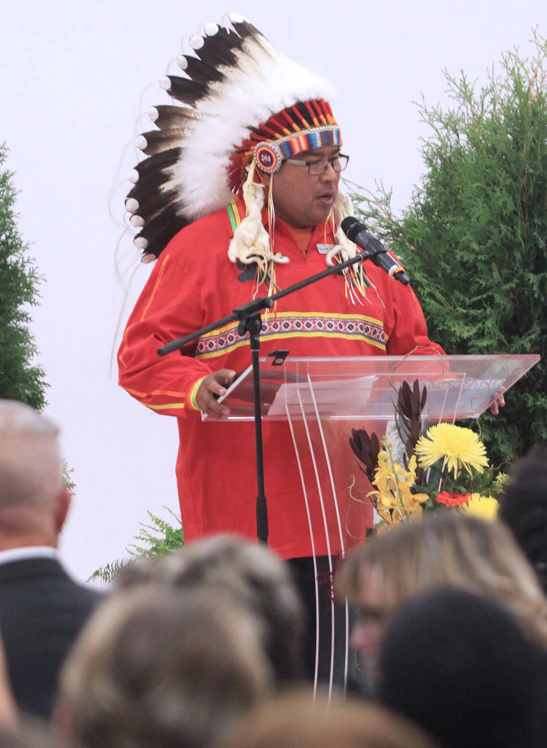
{"label": "black-haired audience head in the lower right foreground, below blonde hair", "polygon": [[436,590],[403,604],[387,625],[377,693],[445,748],[539,747],[546,657],[494,601]]}

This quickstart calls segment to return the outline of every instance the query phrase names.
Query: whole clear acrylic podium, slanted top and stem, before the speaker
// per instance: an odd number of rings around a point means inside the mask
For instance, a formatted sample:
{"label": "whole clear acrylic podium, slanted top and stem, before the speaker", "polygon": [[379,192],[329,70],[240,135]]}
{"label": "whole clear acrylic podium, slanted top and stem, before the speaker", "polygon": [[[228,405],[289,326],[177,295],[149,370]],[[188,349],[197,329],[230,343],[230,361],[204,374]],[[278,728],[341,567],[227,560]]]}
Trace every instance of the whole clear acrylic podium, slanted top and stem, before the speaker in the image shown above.
{"label": "whole clear acrylic podium, slanted top and stem, before the speaker", "polygon": [[[427,387],[425,420],[454,422],[479,417],[501,387],[509,390],[540,360],[539,355],[284,358],[286,352],[278,354],[260,359],[262,419],[288,423],[297,465],[288,469],[298,473],[295,479],[302,485],[314,558],[325,552],[344,557],[348,548],[364,539],[366,527],[374,524],[373,507],[365,495],[372,487],[357,467],[348,440],[351,429],[365,428],[379,438],[386,433],[403,381],[412,386],[417,378],[421,387]],[[222,400],[230,409],[229,420],[253,420],[251,367],[238,375]],[[353,491],[355,498],[348,490],[352,476],[360,488],[359,494]],[[332,672],[331,662],[331,685]]]}

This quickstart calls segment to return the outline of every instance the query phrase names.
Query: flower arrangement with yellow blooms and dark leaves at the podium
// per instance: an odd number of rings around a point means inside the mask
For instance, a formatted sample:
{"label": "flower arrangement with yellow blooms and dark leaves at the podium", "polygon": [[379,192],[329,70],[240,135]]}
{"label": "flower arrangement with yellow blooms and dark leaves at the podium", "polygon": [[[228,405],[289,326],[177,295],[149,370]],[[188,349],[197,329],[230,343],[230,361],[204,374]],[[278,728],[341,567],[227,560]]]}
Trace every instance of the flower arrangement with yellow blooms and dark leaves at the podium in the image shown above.
{"label": "flower arrangement with yellow blooms and dark leaves at the podium", "polygon": [[[416,379],[412,389],[403,382],[395,404],[395,426],[404,447],[397,461],[392,444],[365,429],[352,429],[350,446],[373,490],[361,491],[374,504],[383,532],[392,524],[421,516],[439,507],[495,518],[496,496],[507,479],[494,479],[483,443],[472,429],[438,423],[424,430],[422,411],[426,387]],[[422,433],[424,430],[424,433]],[[355,479],[350,482],[350,495]]]}

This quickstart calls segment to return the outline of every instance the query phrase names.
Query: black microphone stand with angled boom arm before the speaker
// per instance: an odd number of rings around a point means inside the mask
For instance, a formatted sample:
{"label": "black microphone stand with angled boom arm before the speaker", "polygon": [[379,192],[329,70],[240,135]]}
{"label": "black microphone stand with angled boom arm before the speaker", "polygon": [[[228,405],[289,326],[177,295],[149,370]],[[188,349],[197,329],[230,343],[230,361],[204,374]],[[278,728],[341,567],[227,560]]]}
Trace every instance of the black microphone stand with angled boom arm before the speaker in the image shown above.
{"label": "black microphone stand with angled boom arm before the speaker", "polygon": [[257,483],[257,494],[256,494],[256,536],[259,542],[268,545],[268,503],[266,501],[266,494],[264,488],[264,456],[262,453],[262,410],[260,403],[260,369],[259,369],[259,351],[260,351],[260,331],[262,329],[262,317],[261,312],[265,309],[271,309],[273,304],[278,298],[288,296],[295,291],[299,291],[301,288],[321,281],[322,278],[327,278],[328,275],[333,273],[339,273],[341,270],[348,268],[355,263],[362,263],[364,260],[368,260],[377,254],[374,249],[367,249],[359,252],[355,257],[351,257],[350,260],[345,260],[343,263],[334,265],[333,267],[327,268],[321,273],[316,273],[304,281],[294,283],[292,286],[278,291],[271,296],[261,296],[259,298],[249,301],[248,304],[243,304],[241,307],[237,307],[227,317],[212,322],[211,325],[207,325],[190,335],[185,337],[179,337],[177,340],[173,340],[171,343],[166,343],[161,348],[158,348],[158,355],[164,356],[167,353],[178,351],[182,349],[188,343],[193,340],[197,340],[203,334],[217,330],[217,328],[223,327],[229,324],[229,322],[235,322],[238,320],[238,335],[243,337],[246,332],[249,333],[250,337],[250,352],[251,361],[253,364],[253,399],[254,399],[254,416],[255,416],[255,443],[256,443],[256,483]]}

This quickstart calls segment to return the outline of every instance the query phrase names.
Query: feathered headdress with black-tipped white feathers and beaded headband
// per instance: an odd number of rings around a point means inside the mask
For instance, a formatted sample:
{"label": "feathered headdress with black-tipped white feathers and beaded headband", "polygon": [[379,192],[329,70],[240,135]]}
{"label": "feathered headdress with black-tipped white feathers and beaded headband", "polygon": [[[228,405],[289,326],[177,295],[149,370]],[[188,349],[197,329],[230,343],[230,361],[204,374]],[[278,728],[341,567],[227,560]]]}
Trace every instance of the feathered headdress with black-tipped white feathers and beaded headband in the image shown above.
{"label": "feathered headdress with black-tipped white feathers and beaded headband", "polygon": [[[340,144],[340,129],[325,100],[332,93],[324,79],[282,55],[242,16],[225,26],[205,25],[190,39],[192,53],[179,55],[181,76],[160,85],[175,100],[149,110],[155,128],[135,145],[146,156],[132,171],[126,197],[130,223],[140,229],[134,243],[143,262],[159,256],[183,227],[223,208],[243,186],[246,215],[238,224],[229,258],[256,262],[265,272],[286,262],[275,253],[262,224],[265,190],[256,168],[274,174],[282,159],[303,150]],[[339,192],[336,226],[351,215],[349,198]],[[356,248],[341,230],[327,263]]]}

